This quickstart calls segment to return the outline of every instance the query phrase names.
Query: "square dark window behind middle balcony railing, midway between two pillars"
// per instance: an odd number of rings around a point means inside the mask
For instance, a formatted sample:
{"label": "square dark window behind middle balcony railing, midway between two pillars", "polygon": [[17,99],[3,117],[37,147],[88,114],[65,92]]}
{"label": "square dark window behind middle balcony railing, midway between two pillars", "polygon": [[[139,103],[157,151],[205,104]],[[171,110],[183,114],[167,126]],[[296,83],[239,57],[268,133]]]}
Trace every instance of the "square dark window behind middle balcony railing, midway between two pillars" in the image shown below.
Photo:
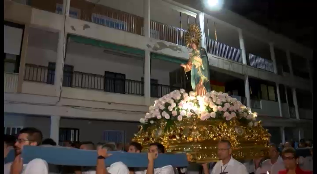
{"label": "square dark window behind middle balcony railing, midway between two pillars", "polygon": [[126,74],[105,71],[105,89],[111,93],[126,93]]}

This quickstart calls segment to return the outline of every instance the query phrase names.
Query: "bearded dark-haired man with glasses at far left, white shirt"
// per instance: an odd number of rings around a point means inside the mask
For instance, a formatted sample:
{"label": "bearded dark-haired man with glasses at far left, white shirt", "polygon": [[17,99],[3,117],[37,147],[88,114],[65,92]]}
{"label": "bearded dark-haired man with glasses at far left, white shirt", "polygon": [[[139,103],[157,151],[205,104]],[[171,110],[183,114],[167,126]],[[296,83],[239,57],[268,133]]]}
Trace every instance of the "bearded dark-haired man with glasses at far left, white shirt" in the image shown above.
{"label": "bearded dark-haired man with glasses at far left, white shirt", "polygon": [[33,159],[28,164],[23,164],[21,153],[24,145],[41,145],[42,132],[33,127],[22,129],[15,143],[16,157],[12,163],[4,164],[4,174],[48,174],[49,168],[46,161]]}

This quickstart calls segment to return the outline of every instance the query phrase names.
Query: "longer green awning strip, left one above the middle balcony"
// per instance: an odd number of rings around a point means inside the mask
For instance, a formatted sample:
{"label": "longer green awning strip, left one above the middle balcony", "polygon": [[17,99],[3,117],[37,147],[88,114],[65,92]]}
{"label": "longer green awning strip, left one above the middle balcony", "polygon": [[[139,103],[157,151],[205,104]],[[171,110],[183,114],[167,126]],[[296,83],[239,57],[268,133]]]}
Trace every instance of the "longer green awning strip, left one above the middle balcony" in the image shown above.
{"label": "longer green awning strip, left one above the middle balcony", "polygon": [[69,39],[71,39],[72,41],[77,42],[77,43],[106,48],[106,49],[117,51],[117,52],[133,54],[133,55],[138,55],[138,56],[142,56],[142,57],[144,57],[144,54],[145,54],[144,50],[137,49],[137,48],[131,48],[131,47],[117,45],[117,44],[113,44],[113,43],[109,43],[109,42],[98,41],[95,39],[90,39],[90,38],[86,38],[86,37],[82,37],[82,36],[78,36],[78,35],[68,34],[68,37],[69,37]]}

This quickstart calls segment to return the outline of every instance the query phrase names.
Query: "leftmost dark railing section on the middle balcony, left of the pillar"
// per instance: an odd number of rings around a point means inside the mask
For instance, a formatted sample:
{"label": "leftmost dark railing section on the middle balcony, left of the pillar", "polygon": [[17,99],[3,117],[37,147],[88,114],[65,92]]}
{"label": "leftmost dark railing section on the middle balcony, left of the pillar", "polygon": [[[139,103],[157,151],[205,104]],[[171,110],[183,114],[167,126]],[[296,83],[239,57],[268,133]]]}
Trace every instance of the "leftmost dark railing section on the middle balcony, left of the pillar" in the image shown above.
{"label": "leftmost dark railing section on the middle balcony, left of the pillar", "polygon": [[24,80],[54,84],[55,70],[41,65],[25,64]]}

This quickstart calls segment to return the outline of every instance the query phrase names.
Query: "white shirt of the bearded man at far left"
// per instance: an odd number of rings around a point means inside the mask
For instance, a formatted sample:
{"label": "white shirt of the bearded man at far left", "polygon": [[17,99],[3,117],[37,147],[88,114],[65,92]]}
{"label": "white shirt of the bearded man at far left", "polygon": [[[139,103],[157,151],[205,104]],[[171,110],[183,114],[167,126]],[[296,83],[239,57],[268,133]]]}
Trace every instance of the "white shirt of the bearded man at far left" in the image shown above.
{"label": "white shirt of the bearded man at far left", "polygon": [[[10,174],[11,165],[4,164],[4,174]],[[23,164],[22,174],[49,174],[49,165],[42,159],[33,159],[29,164]]]}

